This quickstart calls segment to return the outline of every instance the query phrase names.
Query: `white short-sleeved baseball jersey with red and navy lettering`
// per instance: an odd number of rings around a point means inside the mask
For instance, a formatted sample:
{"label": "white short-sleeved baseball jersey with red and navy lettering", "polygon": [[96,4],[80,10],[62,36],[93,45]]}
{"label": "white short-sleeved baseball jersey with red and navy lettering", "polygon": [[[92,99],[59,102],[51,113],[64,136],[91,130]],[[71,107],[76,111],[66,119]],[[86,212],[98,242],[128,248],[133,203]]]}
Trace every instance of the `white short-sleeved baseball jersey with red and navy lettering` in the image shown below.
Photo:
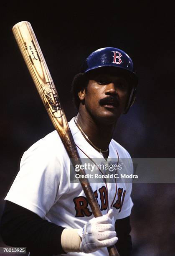
{"label": "white short-sleeved baseball jersey with red and navy lettering", "polygon": [[[81,134],[74,118],[69,122],[69,127],[81,158],[103,160],[103,156]],[[108,160],[117,159],[118,156],[130,159],[129,153],[112,139]],[[127,173],[133,173],[132,164],[128,164]],[[103,215],[107,214],[108,208],[111,207],[114,210],[114,220],[130,215],[133,206],[130,197],[132,183],[92,183],[91,187]],[[25,151],[20,170],[5,200],[25,207],[41,218],[65,228],[83,228],[85,223],[93,218],[81,184],[70,182],[70,159],[56,131],[49,133]],[[108,251],[107,248],[102,248],[88,254],[107,256]],[[66,255],[86,256],[87,253]]]}

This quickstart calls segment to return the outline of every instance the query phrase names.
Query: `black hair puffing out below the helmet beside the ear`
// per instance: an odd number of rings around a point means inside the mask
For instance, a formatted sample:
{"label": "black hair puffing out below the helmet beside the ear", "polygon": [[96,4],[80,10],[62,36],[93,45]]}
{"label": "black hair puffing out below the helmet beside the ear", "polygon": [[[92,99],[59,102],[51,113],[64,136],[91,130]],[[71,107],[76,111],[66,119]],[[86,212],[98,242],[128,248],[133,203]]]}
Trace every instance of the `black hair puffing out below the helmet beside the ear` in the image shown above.
{"label": "black hair puffing out below the helmet beside the ear", "polygon": [[79,99],[79,92],[87,88],[89,79],[83,73],[78,73],[74,76],[71,84],[71,93],[73,95],[73,102],[76,108],[79,110],[81,100]]}

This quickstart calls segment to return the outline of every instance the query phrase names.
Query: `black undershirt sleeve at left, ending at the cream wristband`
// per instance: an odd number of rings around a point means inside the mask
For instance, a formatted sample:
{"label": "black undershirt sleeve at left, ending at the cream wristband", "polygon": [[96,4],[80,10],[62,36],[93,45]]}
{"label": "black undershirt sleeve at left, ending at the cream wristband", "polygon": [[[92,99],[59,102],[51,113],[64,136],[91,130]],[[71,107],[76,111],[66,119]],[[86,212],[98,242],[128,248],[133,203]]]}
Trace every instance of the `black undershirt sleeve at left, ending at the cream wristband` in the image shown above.
{"label": "black undershirt sleeve at left, ending at the cream wristband", "polygon": [[13,202],[5,202],[0,230],[8,246],[26,247],[30,256],[65,253],[61,246],[63,229]]}

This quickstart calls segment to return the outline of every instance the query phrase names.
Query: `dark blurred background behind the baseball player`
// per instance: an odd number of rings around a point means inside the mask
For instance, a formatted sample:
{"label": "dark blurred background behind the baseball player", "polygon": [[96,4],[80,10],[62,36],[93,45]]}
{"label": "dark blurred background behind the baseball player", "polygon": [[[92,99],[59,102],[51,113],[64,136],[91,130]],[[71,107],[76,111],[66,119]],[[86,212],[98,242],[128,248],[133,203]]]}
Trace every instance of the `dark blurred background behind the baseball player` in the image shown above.
{"label": "dark blurred background behind the baseball player", "polygon": [[[139,78],[137,101],[120,118],[114,139],[135,158],[174,158],[171,2],[65,0],[1,4],[0,214],[23,152],[53,131],[12,27],[22,20],[33,26],[68,120],[77,113],[71,100],[71,80],[86,56],[107,46],[126,51]],[[174,184],[133,184],[133,256],[175,255],[174,196]],[[2,241],[0,246],[4,246]]]}

